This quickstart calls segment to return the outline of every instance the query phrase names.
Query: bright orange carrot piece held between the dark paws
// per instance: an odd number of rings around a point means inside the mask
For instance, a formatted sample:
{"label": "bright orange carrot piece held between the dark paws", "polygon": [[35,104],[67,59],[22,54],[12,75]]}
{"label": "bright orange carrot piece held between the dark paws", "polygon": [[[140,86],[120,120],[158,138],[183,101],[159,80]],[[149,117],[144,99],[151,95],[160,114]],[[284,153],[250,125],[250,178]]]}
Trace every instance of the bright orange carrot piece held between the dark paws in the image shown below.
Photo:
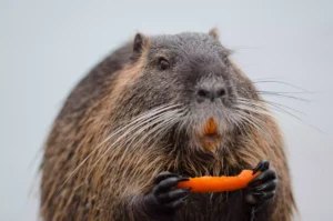
{"label": "bright orange carrot piece held between the dark paws", "polygon": [[245,188],[260,172],[252,174],[252,170],[243,170],[235,177],[200,177],[178,183],[178,188],[191,188],[192,192],[235,191]]}

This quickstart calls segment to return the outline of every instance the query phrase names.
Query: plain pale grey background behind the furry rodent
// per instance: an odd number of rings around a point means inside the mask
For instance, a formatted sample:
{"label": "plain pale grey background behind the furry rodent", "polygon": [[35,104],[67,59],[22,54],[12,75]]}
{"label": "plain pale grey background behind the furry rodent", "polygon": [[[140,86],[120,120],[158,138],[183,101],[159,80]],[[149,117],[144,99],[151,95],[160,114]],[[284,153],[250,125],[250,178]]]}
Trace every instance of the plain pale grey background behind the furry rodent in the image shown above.
{"label": "plain pale grey background behind the furry rodent", "polygon": [[[266,99],[306,113],[289,110],[303,122],[279,114],[294,193],[302,220],[333,220],[333,13],[329,0],[1,0],[0,220],[37,220],[39,184],[34,181],[42,143],[70,89],[93,64],[138,30],[176,33],[214,26],[252,79],[273,78],[314,92],[289,93],[311,102]],[[281,83],[258,87],[300,92]]]}

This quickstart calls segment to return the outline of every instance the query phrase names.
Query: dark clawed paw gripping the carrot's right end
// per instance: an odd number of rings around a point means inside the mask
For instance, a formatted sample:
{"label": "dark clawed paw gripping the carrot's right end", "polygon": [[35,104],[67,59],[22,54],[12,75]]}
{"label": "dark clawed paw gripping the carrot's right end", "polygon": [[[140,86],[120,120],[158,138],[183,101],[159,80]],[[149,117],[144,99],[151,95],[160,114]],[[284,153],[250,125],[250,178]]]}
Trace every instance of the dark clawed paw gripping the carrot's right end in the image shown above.
{"label": "dark clawed paw gripping the carrot's right end", "polygon": [[269,161],[261,161],[253,173],[261,171],[246,188],[245,201],[250,204],[262,204],[275,195],[278,178],[274,170],[270,169]]}

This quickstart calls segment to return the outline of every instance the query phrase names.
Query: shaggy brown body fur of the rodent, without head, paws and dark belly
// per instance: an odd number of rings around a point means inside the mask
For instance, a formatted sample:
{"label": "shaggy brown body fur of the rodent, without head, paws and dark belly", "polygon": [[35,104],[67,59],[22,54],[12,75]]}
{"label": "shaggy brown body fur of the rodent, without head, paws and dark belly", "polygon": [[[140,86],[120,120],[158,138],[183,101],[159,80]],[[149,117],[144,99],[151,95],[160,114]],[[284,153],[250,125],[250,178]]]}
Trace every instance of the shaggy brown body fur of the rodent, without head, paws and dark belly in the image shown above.
{"label": "shaggy brown body fur of the rodent, without head, paws and dark belly", "polygon": [[[134,64],[125,62],[112,74],[108,72],[112,62],[109,58],[74,89],[46,144],[42,218],[47,221],[133,219],[142,212],[133,204],[135,195],[149,192],[152,179],[161,171],[185,170],[192,175],[233,174],[234,169],[250,169],[268,159],[280,180],[271,210],[272,221],[290,221],[294,200],[289,168],[281,133],[270,117],[260,115],[269,125],[265,134],[253,127],[238,140],[224,141],[239,148],[233,152],[231,149],[214,152],[209,164],[195,160],[196,155],[190,150],[181,154],[165,152],[162,141],[125,149],[129,143],[122,139],[117,147],[108,149],[121,134],[105,141],[108,135],[125,123],[119,112],[119,94],[127,93],[135,84],[144,58],[140,57]],[[104,74],[99,76],[100,72]],[[100,88],[98,92],[94,91],[97,87]],[[135,115],[141,110],[131,111]]]}

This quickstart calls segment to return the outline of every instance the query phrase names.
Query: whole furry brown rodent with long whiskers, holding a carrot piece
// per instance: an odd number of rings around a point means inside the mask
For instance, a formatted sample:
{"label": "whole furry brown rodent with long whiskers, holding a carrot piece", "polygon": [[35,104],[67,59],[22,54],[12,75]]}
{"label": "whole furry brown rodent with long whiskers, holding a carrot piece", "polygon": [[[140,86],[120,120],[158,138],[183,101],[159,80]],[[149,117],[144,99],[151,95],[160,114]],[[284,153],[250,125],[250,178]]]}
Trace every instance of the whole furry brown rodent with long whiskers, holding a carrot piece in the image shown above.
{"label": "whole furry brown rodent with long whiskers, holding a carrot piece", "polygon": [[[42,219],[290,221],[280,129],[231,53],[215,29],[137,33],[97,64],[46,142]],[[175,188],[251,168],[261,174],[243,190]]]}

